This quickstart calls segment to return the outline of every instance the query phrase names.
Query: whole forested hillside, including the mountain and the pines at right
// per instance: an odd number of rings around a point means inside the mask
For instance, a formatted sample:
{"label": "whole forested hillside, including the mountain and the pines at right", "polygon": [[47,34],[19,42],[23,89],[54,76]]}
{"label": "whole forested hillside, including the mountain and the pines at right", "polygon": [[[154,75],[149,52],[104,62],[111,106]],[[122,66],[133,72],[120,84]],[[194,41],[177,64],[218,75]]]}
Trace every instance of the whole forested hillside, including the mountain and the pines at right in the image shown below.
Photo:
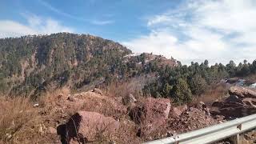
{"label": "whole forested hillside, including the mountain and the pines at right", "polygon": [[0,67],[0,92],[5,95],[34,97],[62,86],[88,90],[150,74],[154,81],[144,87],[144,95],[178,103],[190,102],[222,78],[256,73],[256,61],[209,66],[206,60],[186,66],[160,55],[134,55],[103,38],[68,33],[0,39]]}

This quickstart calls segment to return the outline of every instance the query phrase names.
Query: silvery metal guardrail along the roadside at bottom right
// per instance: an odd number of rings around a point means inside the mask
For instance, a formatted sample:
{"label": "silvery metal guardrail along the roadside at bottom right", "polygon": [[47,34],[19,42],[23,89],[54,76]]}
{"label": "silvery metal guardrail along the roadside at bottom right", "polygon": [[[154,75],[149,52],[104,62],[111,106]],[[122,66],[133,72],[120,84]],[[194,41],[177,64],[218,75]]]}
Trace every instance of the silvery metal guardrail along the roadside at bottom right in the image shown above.
{"label": "silvery metal guardrail along the roadside at bottom right", "polygon": [[[218,142],[231,136],[238,136],[246,130],[256,127],[256,114],[252,114],[243,118],[237,118],[229,122],[223,122],[214,126],[208,126],[199,130],[190,131],[184,134],[178,134],[169,138],[162,138],[145,144],[167,144],[167,143],[211,143]],[[238,142],[237,142],[238,143]]]}

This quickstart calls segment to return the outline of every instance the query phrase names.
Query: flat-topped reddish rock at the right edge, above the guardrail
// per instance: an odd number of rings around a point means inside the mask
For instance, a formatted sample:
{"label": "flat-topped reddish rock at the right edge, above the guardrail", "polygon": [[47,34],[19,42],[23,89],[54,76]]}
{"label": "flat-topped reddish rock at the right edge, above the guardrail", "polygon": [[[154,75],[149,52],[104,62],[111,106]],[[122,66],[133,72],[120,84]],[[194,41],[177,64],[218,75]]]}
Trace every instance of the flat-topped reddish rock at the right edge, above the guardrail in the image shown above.
{"label": "flat-topped reddish rock at the right edge, above the guardrail", "polygon": [[230,87],[229,93],[230,95],[237,95],[239,98],[256,98],[256,91],[241,86]]}

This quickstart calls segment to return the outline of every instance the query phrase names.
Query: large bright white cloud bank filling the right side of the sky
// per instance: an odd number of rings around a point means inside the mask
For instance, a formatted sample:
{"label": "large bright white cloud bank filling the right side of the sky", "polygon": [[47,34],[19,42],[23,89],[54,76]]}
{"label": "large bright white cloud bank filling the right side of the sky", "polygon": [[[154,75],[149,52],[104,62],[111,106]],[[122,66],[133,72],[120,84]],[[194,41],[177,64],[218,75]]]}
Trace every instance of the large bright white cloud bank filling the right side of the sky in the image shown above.
{"label": "large bright white cloud bank filling the right side of the sky", "polygon": [[253,61],[256,54],[256,2],[207,0],[182,3],[147,20],[150,34],[123,42],[135,52],[190,61]]}

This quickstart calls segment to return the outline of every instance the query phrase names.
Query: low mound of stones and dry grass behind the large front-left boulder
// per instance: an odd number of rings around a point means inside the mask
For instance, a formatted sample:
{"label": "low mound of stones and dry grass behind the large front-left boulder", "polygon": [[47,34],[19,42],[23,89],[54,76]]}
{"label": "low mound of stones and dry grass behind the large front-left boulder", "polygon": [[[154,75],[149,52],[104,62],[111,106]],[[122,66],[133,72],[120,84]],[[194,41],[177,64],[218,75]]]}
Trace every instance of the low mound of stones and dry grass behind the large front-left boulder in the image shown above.
{"label": "low mound of stones and dry grass behind the large front-left boulder", "polygon": [[94,111],[114,117],[115,119],[120,118],[120,116],[127,112],[127,107],[122,105],[122,100],[105,94],[99,94],[99,92],[92,92],[92,90],[60,96],[56,100],[56,106],[54,107],[58,110],[69,111],[68,113],[71,114],[80,110]]}

